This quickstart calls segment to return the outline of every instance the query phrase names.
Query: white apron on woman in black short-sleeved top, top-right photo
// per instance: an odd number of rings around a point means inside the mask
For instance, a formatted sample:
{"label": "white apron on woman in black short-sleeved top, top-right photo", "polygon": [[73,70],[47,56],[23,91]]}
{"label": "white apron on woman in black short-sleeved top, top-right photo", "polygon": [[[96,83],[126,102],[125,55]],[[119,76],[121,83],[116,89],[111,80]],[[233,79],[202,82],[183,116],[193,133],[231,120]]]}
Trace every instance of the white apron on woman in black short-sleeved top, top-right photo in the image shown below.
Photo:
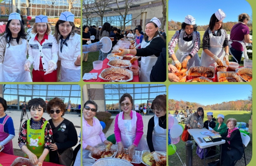
{"label": "white apron on woman in black short-sleeved top, top-right photo", "polygon": [[[225,56],[225,51],[223,49],[223,43],[225,40],[225,31],[221,29],[221,36],[213,36],[212,31],[209,31],[209,39],[210,39],[210,46],[209,50],[212,54],[216,55],[221,61],[223,62],[223,58]],[[224,63],[224,62],[223,62]],[[217,63],[214,61],[212,57],[206,54],[204,51],[201,54],[201,66],[204,67],[215,67]]]}

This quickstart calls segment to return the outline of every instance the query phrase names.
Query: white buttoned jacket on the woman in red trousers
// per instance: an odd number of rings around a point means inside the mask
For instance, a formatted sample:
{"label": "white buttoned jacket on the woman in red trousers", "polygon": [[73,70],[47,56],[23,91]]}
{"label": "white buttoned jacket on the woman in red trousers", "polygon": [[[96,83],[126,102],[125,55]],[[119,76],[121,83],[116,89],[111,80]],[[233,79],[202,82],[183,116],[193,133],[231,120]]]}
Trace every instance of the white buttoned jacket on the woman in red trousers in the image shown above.
{"label": "white buttoned jacket on the woman in red trousers", "polygon": [[33,63],[34,70],[39,70],[40,57],[45,72],[48,70],[48,62],[50,60],[57,63],[58,43],[53,35],[48,35],[48,39],[45,39],[42,45],[35,40],[35,37],[29,40],[29,58],[27,60],[29,60],[31,64]]}

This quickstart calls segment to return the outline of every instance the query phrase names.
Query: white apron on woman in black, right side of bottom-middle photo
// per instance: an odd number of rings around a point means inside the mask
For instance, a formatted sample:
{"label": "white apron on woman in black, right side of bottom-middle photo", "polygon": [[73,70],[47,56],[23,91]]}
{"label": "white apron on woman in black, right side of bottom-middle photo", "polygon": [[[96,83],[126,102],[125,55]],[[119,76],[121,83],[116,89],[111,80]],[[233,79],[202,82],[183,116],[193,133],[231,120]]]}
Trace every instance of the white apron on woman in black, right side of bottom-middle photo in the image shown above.
{"label": "white apron on woman in black, right side of bottom-middle photo", "polygon": [[154,130],[152,135],[152,141],[155,151],[166,152],[166,129],[163,129],[158,124],[158,117],[154,115]]}

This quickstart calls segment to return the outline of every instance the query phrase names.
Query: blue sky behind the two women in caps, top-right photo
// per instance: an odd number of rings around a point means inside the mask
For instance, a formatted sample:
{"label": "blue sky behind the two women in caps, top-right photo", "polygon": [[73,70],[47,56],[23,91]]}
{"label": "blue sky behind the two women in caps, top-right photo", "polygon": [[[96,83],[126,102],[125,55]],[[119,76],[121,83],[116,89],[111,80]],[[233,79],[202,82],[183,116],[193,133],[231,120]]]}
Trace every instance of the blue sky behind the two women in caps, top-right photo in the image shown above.
{"label": "blue sky behind the two women in caps, top-right photo", "polygon": [[218,9],[226,13],[224,23],[236,22],[241,13],[252,16],[251,5],[246,0],[169,0],[168,20],[184,22],[186,15],[192,15],[197,25],[207,25]]}

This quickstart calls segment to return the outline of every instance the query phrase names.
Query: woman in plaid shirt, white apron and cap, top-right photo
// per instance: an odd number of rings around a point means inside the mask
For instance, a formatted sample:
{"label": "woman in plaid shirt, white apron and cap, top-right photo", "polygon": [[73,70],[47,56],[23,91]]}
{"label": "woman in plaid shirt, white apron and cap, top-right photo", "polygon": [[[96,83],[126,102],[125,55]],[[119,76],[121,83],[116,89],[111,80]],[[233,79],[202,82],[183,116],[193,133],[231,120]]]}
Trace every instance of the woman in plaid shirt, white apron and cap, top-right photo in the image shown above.
{"label": "woman in plaid shirt, white apron and cap, top-right photo", "polygon": [[[178,44],[178,50],[174,49]],[[181,30],[176,31],[168,44],[169,57],[173,59],[173,65],[178,70],[188,66],[200,66],[200,58],[197,54],[200,48],[200,33],[197,32],[196,19],[191,15],[185,17],[181,24]],[[182,63],[180,63],[182,62]]]}

